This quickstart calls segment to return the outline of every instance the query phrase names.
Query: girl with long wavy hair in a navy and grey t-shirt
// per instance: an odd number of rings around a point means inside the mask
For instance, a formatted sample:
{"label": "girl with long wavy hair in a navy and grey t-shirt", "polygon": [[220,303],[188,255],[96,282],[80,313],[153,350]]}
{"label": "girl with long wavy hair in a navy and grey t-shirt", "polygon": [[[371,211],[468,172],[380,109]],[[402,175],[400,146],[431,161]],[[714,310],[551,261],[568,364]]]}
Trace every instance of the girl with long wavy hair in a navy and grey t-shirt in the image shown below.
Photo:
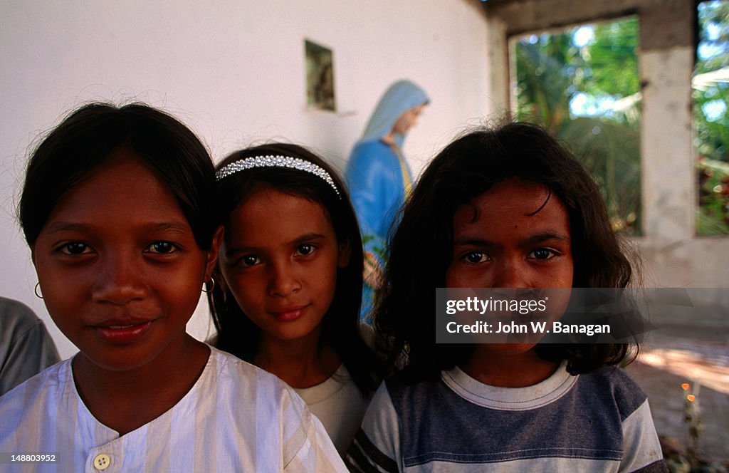
{"label": "girl with long wavy hair in a navy and grey t-shirt", "polygon": [[[646,396],[617,367],[630,359],[622,340],[495,334],[499,319],[567,315],[573,288],[631,280],[599,189],[542,128],[507,123],[445,147],[405,205],[386,280],[375,325],[404,367],[375,393],[346,458],[353,471],[666,471]],[[480,312],[469,323],[488,320],[494,337],[437,343],[447,321],[436,288],[549,303]]]}

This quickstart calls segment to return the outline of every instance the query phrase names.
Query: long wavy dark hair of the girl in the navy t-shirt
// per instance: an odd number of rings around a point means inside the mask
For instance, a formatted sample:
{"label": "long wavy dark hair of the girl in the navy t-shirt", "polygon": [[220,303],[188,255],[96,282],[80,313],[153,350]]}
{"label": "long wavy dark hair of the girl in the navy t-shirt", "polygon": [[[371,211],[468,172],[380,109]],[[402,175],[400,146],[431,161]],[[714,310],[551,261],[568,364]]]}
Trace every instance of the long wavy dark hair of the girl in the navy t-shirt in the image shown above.
{"label": "long wavy dark hair of the girl in the navy t-shirt", "polygon": [[[467,362],[474,345],[435,343],[435,288],[445,287],[453,255],[453,215],[509,177],[539,182],[564,203],[572,236],[575,288],[624,288],[631,263],[613,233],[604,201],[588,172],[550,134],[529,123],[471,131],[427,166],[389,243],[386,285],[376,296],[375,326],[390,344],[390,364],[405,364],[405,380],[434,380]],[[550,361],[567,360],[572,374],[618,364],[626,344],[539,344]],[[404,356],[404,360],[402,359]]]}

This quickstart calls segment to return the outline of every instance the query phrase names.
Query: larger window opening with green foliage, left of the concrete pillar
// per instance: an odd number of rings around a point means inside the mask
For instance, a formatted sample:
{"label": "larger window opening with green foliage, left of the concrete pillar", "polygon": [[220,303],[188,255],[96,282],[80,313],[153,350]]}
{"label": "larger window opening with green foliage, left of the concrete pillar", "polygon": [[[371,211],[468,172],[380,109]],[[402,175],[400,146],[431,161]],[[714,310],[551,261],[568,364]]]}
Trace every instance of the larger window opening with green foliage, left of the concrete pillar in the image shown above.
{"label": "larger window opening with green foliage, left of the concrete pillar", "polygon": [[512,39],[518,120],[566,140],[603,191],[616,231],[640,234],[638,20]]}

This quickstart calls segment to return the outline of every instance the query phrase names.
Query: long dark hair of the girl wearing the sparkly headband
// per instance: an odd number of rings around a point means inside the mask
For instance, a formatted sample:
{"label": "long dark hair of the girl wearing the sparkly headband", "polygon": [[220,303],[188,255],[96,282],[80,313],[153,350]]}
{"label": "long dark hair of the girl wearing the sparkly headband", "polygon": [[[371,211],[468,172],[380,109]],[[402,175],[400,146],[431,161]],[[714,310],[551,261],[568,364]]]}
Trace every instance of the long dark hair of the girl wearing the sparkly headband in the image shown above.
{"label": "long dark hair of the girl wearing the sparkly headband", "polygon": [[[373,351],[359,335],[362,237],[344,183],[331,166],[319,156],[304,147],[285,143],[261,145],[237,151],[227,156],[217,168],[220,169],[244,158],[265,155],[285,155],[316,164],[330,174],[339,194],[321,177],[298,169],[285,167],[246,169],[218,182],[224,225],[226,228],[229,227],[233,209],[262,186],[292,196],[301,196],[324,208],[338,240],[348,242],[351,256],[348,266],[337,271],[335,296],[321,320],[319,347],[328,345],[335,350],[363,393],[374,391],[381,379],[382,370]],[[217,347],[243,360],[253,361],[260,350],[261,329],[245,315],[233,295],[226,293],[219,286],[208,293],[208,303],[218,330]]]}

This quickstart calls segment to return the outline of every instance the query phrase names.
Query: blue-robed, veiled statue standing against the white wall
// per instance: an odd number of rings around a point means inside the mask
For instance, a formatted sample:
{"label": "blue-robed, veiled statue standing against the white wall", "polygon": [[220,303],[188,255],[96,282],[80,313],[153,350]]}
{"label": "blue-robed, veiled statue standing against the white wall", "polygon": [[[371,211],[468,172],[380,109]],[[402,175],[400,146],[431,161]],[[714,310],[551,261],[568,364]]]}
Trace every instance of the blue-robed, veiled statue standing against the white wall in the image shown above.
{"label": "blue-robed, veiled statue standing against the white wall", "polygon": [[425,91],[413,82],[392,84],[375,107],[347,164],[345,179],[364,243],[361,315],[365,320],[381,283],[388,232],[412,185],[402,143],[421,107],[428,103]]}

